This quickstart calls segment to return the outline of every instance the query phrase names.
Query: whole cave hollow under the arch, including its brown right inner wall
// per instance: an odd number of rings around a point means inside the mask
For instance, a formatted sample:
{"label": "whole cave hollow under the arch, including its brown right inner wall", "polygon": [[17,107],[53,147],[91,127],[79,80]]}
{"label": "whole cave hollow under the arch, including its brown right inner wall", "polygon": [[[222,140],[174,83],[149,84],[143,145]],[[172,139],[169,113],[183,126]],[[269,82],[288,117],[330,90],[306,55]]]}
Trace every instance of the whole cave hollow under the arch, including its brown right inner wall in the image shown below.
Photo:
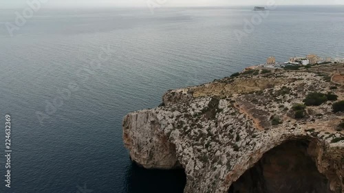
{"label": "whole cave hollow under the arch, including its brown right inner wall", "polygon": [[290,139],[262,155],[234,181],[229,193],[340,193],[342,161],[324,153],[325,143]]}

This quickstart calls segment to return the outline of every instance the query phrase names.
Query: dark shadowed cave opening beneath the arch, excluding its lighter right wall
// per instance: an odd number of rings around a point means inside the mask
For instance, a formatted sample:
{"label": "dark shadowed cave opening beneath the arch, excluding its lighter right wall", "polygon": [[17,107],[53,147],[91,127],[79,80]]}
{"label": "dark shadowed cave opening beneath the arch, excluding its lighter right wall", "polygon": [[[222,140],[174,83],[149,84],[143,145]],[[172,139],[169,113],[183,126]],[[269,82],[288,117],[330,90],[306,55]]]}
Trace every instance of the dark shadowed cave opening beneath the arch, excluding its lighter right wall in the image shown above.
{"label": "dark shadowed cave opening beneath the arch, excluding its lighter right wall", "polygon": [[310,141],[287,141],[266,152],[230,186],[229,193],[333,193],[308,155]]}

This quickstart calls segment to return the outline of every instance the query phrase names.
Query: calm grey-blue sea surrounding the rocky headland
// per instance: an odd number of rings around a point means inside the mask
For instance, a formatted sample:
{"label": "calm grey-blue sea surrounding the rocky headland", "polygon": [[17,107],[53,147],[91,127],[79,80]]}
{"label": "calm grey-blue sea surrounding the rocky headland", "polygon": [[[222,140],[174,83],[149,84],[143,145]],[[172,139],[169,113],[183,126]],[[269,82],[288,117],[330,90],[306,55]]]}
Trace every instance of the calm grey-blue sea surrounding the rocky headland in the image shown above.
{"label": "calm grey-blue sea surrounding the rocky headland", "polygon": [[268,56],[343,58],[343,8],[279,7],[241,42],[252,8],[42,9],[14,37],[14,10],[0,10],[0,144],[10,113],[13,150],[10,189],[0,154],[0,192],[182,192],[182,171],[131,164],[122,117]]}

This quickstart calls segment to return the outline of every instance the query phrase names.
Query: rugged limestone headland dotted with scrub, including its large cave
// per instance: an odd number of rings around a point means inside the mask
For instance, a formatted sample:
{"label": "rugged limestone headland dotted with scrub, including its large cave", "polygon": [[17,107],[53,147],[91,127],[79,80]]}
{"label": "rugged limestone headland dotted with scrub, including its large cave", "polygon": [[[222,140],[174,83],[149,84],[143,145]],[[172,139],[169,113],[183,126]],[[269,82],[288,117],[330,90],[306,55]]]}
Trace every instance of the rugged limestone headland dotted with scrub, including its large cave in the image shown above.
{"label": "rugged limestone headland dotted with scrub, including its large cave", "polygon": [[343,193],[344,133],[337,127],[343,113],[332,113],[330,101],[307,107],[298,120],[292,109],[312,91],[344,100],[343,86],[331,90],[330,73],[317,71],[168,91],[164,106],[125,116],[125,146],[144,168],[184,168],[184,192]]}

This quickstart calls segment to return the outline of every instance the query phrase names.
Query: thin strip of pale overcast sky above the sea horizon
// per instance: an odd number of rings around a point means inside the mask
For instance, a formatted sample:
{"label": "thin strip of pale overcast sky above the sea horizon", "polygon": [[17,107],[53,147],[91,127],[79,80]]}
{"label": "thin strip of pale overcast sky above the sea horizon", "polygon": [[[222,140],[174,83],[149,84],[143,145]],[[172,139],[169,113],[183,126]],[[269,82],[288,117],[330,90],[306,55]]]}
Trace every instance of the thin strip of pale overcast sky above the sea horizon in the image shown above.
{"label": "thin strip of pale overcast sky above the sea horizon", "polygon": [[[24,7],[26,1],[39,0],[0,0],[0,8]],[[42,0],[43,1],[43,0]],[[44,0],[46,7],[85,7],[85,6],[147,6],[147,2],[166,2],[164,6],[222,6],[222,5],[266,5],[273,0]],[[338,5],[344,0],[275,0],[277,5]]]}

